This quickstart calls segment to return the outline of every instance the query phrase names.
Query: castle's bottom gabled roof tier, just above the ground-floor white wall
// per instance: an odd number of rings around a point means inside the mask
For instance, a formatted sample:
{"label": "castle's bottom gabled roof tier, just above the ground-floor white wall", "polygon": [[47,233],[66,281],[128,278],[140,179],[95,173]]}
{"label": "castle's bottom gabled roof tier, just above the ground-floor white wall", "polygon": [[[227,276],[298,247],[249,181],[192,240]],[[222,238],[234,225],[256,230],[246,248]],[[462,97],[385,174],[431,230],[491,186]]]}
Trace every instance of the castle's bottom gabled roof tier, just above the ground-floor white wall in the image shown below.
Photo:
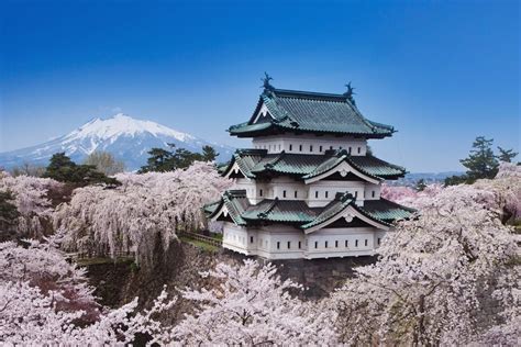
{"label": "castle's bottom gabled roof tier, just above the ground-floor white wall", "polygon": [[312,232],[328,225],[369,224],[387,230],[393,222],[410,217],[415,210],[386,199],[367,200],[364,206],[358,206],[350,193],[336,194],[335,199],[323,208],[309,208],[304,201],[277,198],[264,199],[253,205],[246,198],[245,190],[229,190],[220,201],[207,204],[204,212],[209,219],[230,221],[242,226],[290,224]]}

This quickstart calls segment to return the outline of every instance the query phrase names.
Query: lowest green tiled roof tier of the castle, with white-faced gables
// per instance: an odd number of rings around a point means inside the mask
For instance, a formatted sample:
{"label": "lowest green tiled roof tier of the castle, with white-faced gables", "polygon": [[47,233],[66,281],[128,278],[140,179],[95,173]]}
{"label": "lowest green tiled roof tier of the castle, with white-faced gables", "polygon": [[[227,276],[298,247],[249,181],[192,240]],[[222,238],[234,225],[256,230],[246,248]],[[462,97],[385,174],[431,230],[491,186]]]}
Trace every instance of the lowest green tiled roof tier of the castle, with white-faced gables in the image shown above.
{"label": "lowest green tiled roof tier of the castle, with white-faced gables", "polygon": [[409,217],[414,210],[399,205],[388,200],[366,200],[364,206],[355,204],[350,193],[339,193],[335,199],[323,208],[309,208],[302,200],[264,199],[256,205],[250,204],[245,190],[226,191],[221,201],[207,206],[212,206],[209,217],[215,216],[225,205],[230,216],[237,225],[281,223],[296,225],[302,230],[310,228],[333,219],[347,206],[365,216],[391,225],[396,220]]}

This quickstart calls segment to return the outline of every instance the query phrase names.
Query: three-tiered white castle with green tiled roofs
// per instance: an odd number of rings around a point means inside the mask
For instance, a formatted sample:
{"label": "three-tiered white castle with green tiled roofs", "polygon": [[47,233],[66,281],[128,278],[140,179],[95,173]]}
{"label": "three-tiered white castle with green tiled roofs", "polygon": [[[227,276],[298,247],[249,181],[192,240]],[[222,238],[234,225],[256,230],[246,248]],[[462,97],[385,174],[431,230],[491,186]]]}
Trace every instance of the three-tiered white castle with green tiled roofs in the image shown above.
{"label": "three-tiered white castle with green tiled roofs", "polygon": [[413,210],[380,198],[384,180],[404,168],[370,153],[367,141],[392,126],[362,115],[347,92],[264,91],[250,121],[229,128],[252,137],[220,168],[232,190],[204,206],[223,222],[223,247],[266,259],[375,255],[393,222]]}

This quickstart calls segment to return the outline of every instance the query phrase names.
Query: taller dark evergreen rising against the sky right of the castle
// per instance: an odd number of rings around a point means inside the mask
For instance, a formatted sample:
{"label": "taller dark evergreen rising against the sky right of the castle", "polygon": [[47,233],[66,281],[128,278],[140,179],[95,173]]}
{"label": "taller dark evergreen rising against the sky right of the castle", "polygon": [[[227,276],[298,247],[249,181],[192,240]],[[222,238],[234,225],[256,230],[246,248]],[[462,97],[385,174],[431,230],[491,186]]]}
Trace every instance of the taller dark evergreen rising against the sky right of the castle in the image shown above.
{"label": "taller dark evergreen rising against the sky right of the castle", "polygon": [[498,172],[499,163],[492,152],[494,139],[478,136],[467,158],[459,160],[467,168],[467,182],[480,178],[494,178]]}

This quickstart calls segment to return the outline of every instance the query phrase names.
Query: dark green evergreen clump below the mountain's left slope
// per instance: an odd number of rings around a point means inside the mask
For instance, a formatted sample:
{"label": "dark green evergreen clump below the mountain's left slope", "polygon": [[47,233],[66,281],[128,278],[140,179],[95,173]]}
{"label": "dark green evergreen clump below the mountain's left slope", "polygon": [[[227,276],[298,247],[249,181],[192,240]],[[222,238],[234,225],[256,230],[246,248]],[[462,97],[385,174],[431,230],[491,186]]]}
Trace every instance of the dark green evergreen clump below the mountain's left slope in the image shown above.
{"label": "dark green evergreen clump below the mountain's left slope", "polygon": [[107,175],[97,171],[92,165],[77,165],[65,153],[53,155],[43,177],[55,179],[59,182],[78,186],[103,183],[119,186],[120,182]]}

